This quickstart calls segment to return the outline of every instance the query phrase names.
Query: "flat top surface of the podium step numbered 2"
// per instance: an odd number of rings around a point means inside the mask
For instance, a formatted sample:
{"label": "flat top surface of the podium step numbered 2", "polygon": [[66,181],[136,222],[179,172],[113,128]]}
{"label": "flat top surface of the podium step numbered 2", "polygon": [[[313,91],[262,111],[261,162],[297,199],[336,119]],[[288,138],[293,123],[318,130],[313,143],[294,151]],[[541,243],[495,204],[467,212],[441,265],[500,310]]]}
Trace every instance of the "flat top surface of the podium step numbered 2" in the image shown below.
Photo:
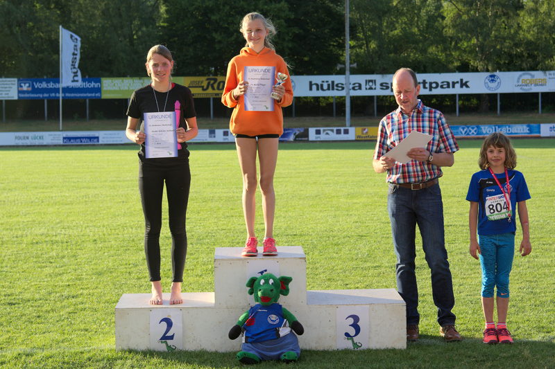
{"label": "flat top surface of the podium step numbered 2", "polygon": [[162,294],[162,305],[151,305],[148,300],[151,294],[123,294],[116,305],[116,309],[159,309],[161,307],[214,307],[214,292],[186,292],[183,303],[169,305],[170,294]]}

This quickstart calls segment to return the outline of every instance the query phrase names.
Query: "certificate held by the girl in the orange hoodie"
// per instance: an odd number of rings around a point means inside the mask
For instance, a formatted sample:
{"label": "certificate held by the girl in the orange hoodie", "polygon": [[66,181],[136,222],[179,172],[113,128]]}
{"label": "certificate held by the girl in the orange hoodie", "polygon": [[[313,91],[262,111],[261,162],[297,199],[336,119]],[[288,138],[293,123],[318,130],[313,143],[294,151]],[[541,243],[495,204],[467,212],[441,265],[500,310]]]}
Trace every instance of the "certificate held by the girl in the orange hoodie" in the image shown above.
{"label": "certificate held by the girl in the orange hoodie", "polygon": [[243,80],[248,82],[245,93],[246,111],[273,111],[272,87],[275,66],[245,66]]}

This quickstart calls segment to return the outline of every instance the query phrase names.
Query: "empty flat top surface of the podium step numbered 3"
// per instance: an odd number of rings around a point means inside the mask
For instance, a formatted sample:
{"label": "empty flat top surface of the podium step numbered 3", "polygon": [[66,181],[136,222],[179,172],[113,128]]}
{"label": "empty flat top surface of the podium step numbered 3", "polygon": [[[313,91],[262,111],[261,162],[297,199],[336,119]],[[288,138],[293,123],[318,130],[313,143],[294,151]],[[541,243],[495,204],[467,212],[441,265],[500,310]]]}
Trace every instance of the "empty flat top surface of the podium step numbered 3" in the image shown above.
{"label": "empty flat top surface of the podium step numbered 3", "polygon": [[330,289],[307,291],[307,305],[403,304],[399,293],[391,289]]}

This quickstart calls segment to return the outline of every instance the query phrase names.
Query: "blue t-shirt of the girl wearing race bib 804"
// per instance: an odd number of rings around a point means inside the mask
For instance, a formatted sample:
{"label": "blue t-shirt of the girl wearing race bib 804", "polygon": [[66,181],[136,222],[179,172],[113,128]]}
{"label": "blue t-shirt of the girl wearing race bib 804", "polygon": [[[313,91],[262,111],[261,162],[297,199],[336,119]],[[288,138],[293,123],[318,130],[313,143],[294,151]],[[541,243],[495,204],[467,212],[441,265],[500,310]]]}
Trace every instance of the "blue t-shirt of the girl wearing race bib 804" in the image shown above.
{"label": "blue t-shirt of the girl wearing race bib 804", "polygon": [[[507,170],[511,189],[511,222],[504,215],[508,210],[501,188],[488,169],[472,174],[466,199],[478,203],[478,234],[499,235],[516,231],[516,203],[530,199],[524,176],[518,170]],[[505,172],[495,174],[506,192]]]}

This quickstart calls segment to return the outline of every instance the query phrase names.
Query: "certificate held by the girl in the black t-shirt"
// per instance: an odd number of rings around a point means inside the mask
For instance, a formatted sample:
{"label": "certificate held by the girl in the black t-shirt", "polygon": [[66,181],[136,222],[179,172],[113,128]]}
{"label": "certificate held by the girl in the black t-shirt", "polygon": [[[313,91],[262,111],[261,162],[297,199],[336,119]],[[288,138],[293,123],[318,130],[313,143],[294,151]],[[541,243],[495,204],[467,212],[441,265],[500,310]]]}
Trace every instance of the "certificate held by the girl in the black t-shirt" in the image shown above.
{"label": "certificate held by the girl in the black t-shirt", "polygon": [[178,156],[176,112],[144,113],[144,149],[147,158],[175,158]]}

